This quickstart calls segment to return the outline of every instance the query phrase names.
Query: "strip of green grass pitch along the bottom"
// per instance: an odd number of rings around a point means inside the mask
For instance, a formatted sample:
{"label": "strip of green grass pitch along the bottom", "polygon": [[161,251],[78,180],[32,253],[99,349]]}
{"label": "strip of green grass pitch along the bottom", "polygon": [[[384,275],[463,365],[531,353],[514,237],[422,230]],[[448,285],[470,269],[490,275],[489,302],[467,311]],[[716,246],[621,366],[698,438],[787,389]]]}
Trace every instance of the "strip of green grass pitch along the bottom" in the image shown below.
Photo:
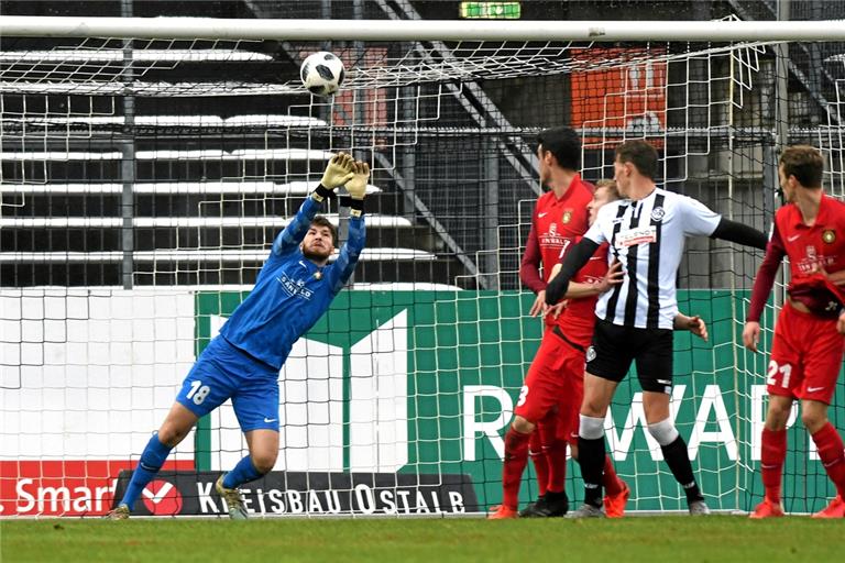
{"label": "strip of green grass pitch along the bottom", "polygon": [[135,519],[0,521],[0,561],[841,561],[842,520]]}

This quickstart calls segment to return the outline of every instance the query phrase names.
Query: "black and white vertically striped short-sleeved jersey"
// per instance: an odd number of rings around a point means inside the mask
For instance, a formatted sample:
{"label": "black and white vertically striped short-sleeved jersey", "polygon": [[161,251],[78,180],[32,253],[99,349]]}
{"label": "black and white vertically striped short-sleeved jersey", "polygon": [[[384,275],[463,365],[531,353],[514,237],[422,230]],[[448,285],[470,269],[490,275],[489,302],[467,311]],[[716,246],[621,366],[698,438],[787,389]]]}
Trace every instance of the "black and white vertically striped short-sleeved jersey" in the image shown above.
{"label": "black and white vertically striped short-sleeved jersey", "polygon": [[602,207],[584,236],[610,242],[608,261],[618,258],[625,276],[599,298],[596,317],[625,327],[671,329],[684,238],[710,236],[721,219],[702,202],[660,188],[638,201]]}

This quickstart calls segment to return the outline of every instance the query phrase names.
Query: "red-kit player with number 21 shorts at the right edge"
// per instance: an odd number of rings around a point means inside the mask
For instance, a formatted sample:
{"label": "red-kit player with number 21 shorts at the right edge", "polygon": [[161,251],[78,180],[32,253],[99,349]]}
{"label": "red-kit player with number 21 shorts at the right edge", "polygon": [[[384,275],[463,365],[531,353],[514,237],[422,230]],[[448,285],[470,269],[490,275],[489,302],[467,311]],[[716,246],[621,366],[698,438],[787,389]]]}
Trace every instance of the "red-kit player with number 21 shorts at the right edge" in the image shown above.
{"label": "red-kit player with number 21 shorts at the right edge", "polygon": [[781,155],[778,175],[787,203],[775,214],[743,330],[743,344],[757,352],[760,313],[780,262],[788,256],[792,279],[775,325],[767,380],[769,409],[760,459],[766,496],[751,518],[783,516],[780,489],[794,399],[801,399],[801,421],[837,490],[813,517],[845,517],[845,454],[842,438],[827,420],[845,349],[845,203],[824,194],[823,169],[821,153],[811,146],[791,146]]}

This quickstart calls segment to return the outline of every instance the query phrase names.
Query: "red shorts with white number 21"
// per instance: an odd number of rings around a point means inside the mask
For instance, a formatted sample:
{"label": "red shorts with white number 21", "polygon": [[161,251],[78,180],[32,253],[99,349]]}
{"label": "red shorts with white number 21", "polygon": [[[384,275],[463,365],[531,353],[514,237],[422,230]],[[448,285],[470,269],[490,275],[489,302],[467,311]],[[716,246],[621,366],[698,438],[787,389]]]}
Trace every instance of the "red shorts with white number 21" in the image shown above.
{"label": "red shorts with white number 21", "polygon": [[783,303],[775,324],[771,361],[766,374],[769,395],[830,405],[842,367],[845,339],[836,319],[822,319]]}

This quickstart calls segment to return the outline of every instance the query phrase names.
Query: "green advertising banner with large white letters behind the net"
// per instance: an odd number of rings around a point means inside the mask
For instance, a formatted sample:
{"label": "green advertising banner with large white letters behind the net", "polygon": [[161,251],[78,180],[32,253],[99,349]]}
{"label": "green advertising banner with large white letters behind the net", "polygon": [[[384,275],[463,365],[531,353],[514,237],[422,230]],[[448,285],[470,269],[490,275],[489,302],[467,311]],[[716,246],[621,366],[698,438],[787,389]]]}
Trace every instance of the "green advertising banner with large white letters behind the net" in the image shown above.
{"label": "green advertising banner with large white letters behind the net", "polygon": [[[212,327],[218,327],[244,296],[197,295],[198,353],[208,343]],[[393,338],[405,340],[394,345],[407,350],[407,363],[402,365],[407,372],[407,456],[398,472],[468,474],[482,508],[498,504],[502,437],[541,335],[540,321],[526,316],[533,299],[533,295],[524,292],[341,292],[305,338],[343,353],[343,408],[339,422],[343,429],[342,471],[350,471],[350,464],[358,459],[350,437],[350,429],[354,428],[351,411],[360,412],[361,405],[365,405],[355,398],[355,379],[350,374],[355,365],[355,373],[360,373],[364,361],[377,364],[374,369],[389,373],[391,362],[395,362],[383,346],[367,354],[355,351],[367,339],[383,342],[383,336],[373,340],[372,335],[392,319],[402,318],[402,327],[391,324]],[[746,294],[732,297],[718,290],[679,292],[681,310],[701,314],[707,321],[710,342],[689,333],[676,334],[673,413],[678,430],[690,446],[707,501],[715,509],[749,510],[759,501],[762,489],[758,472],[759,431],[767,405],[768,356],[748,353],[734,344],[743,327],[734,319],[744,317],[745,299]],[[771,319],[764,325],[772,327]],[[768,350],[768,343],[762,344]],[[618,473],[633,490],[628,509],[685,509],[683,494],[661,461],[659,448],[645,431],[639,393],[636,377],[626,378],[606,424],[608,451],[612,450]],[[843,395],[839,386],[834,405],[843,405]],[[378,404],[373,400],[376,417]],[[843,428],[842,407],[831,409],[831,420]],[[206,420],[198,428],[197,467],[209,470],[211,429]],[[835,489],[800,421],[790,429],[789,440],[786,508],[819,510],[835,495]],[[360,466],[354,471],[360,471]],[[570,498],[581,498],[578,466],[571,461],[567,487]],[[536,487],[529,467],[522,499],[534,495]]]}

